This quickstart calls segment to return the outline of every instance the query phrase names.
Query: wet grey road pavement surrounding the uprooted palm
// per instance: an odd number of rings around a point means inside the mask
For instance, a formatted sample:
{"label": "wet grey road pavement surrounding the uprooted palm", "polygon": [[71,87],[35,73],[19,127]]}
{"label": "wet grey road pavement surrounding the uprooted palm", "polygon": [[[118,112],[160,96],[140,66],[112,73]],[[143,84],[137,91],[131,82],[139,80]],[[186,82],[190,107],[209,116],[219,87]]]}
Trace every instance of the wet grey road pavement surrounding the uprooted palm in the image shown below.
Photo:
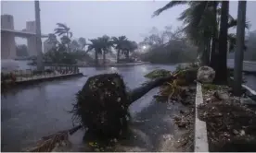
{"label": "wet grey road pavement surrounding the uprooted palm", "polygon": [[[147,80],[144,75],[157,68],[174,70],[175,65],[85,67],[80,71],[88,77],[117,72],[132,89],[144,83]],[[42,136],[70,129],[71,104],[88,77],[40,83],[1,95],[2,151],[20,151],[34,145]],[[255,81],[251,78],[250,85],[256,86]],[[157,92],[158,88],[152,89],[130,106],[132,134],[118,143],[117,151],[180,151],[173,147],[173,140],[183,132],[173,125],[172,116],[185,108],[179,104],[155,102],[152,97]],[[79,131],[70,137],[71,151],[85,151],[83,134]]]}

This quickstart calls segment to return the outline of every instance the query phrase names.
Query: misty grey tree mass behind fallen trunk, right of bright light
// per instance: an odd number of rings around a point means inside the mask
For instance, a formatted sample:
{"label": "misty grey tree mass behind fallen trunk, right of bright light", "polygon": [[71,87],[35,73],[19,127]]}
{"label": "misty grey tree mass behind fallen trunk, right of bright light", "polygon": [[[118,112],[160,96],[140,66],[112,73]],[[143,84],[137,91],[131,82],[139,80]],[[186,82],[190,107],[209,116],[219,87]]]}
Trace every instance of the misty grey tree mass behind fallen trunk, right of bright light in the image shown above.
{"label": "misty grey tree mass behind fallen trunk, right of bright light", "polygon": [[197,59],[196,47],[189,44],[181,28],[173,30],[171,26],[159,31],[152,28],[149,36],[140,44],[146,53],[140,53],[141,60],[156,64],[176,64],[195,62]]}

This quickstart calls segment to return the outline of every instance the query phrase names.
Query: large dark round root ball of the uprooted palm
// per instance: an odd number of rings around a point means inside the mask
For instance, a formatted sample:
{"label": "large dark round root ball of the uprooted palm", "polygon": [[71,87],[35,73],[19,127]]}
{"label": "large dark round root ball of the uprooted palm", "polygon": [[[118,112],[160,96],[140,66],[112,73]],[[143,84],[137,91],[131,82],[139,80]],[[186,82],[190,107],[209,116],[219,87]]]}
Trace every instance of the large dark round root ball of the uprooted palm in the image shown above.
{"label": "large dark round root ball of the uprooted palm", "polygon": [[118,137],[127,129],[128,106],[122,76],[92,76],[76,95],[73,120],[101,138]]}

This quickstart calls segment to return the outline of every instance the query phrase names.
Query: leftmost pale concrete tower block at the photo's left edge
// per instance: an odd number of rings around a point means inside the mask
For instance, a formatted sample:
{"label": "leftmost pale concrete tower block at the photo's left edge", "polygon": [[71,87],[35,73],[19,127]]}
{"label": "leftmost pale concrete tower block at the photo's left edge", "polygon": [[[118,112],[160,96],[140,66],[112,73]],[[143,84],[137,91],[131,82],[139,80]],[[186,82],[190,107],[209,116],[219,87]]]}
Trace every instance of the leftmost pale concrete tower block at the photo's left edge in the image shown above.
{"label": "leftmost pale concrete tower block at the photo's left edge", "polygon": [[[1,29],[14,29],[14,20],[11,15],[1,16]],[[15,34],[1,31],[1,59],[16,57]]]}

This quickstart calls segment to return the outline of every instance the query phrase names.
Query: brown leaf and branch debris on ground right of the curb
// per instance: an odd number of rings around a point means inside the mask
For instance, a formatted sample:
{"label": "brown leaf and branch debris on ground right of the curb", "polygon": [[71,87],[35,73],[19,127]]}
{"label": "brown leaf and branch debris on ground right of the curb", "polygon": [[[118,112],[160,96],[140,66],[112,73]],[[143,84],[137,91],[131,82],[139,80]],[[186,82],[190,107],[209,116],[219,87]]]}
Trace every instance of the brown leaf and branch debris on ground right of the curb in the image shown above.
{"label": "brown leaf and branch debris on ground right of the curb", "polygon": [[[198,106],[198,116],[207,124],[210,150],[231,151],[227,147],[230,142],[236,146],[240,140],[256,138],[256,113],[241,104],[230,88],[217,88],[204,88],[204,103]],[[256,147],[252,149],[256,151]]]}

